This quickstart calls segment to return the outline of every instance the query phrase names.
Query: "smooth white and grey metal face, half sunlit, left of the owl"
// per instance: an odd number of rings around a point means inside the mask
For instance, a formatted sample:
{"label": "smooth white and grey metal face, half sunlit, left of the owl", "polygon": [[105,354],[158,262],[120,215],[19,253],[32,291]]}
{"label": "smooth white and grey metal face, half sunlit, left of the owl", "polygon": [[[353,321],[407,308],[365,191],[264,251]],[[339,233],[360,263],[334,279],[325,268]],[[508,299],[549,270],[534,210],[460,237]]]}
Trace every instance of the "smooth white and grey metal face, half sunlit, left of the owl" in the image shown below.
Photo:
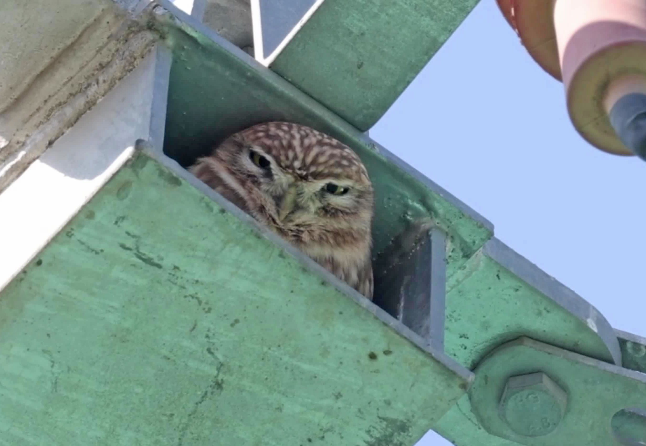
{"label": "smooth white and grey metal face, half sunlit, left of the owl", "polygon": [[0,194],[2,213],[12,216],[0,231],[0,288],[120,168],[135,141],[149,138],[156,56],[149,54]]}

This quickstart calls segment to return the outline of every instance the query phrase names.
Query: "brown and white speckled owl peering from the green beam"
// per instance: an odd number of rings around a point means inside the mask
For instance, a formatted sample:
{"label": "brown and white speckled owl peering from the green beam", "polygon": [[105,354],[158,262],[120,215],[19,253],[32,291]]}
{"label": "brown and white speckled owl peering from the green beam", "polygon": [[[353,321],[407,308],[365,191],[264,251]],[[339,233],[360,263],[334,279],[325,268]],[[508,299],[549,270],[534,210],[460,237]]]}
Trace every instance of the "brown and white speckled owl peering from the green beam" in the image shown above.
{"label": "brown and white speckled owl peering from the green beam", "polygon": [[341,142],[289,122],[227,138],[189,170],[367,298],[373,188]]}

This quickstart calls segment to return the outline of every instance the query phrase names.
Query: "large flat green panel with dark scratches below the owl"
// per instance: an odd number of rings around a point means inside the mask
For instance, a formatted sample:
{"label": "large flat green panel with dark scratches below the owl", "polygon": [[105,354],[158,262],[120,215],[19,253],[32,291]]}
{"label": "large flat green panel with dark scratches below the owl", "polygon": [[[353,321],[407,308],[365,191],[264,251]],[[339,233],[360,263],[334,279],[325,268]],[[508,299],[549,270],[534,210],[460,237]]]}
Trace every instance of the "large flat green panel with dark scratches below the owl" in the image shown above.
{"label": "large flat green panel with dark scratches below the owl", "polygon": [[3,290],[0,334],[12,446],[410,446],[468,385],[141,153]]}

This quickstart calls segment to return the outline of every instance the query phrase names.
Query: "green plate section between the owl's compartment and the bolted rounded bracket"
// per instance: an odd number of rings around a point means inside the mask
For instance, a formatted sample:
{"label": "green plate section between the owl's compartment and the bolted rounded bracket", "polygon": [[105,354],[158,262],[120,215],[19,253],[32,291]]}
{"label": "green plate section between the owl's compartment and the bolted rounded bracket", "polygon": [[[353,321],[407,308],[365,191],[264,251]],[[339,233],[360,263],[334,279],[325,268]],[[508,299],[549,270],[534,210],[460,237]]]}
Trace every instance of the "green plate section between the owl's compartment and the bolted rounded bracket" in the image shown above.
{"label": "green plate section between the owl's compartment and the bolted rounded bracket", "polygon": [[612,361],[586,324],[482,251],[446,284],[444,349],[469,369],[518,336]]}

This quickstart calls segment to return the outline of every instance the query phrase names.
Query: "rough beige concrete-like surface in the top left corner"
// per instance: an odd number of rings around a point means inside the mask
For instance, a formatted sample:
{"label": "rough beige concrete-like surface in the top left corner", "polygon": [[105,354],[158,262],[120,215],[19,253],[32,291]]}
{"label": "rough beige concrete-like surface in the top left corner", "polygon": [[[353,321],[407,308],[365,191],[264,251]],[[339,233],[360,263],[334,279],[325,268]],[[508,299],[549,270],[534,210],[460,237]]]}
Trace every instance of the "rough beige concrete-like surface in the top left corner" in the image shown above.
{"label": "rough beige concrete-like surface in the top left corner", "polygon": [[138,64],[156,40],[134,0],[0,5],[0,191]]}

